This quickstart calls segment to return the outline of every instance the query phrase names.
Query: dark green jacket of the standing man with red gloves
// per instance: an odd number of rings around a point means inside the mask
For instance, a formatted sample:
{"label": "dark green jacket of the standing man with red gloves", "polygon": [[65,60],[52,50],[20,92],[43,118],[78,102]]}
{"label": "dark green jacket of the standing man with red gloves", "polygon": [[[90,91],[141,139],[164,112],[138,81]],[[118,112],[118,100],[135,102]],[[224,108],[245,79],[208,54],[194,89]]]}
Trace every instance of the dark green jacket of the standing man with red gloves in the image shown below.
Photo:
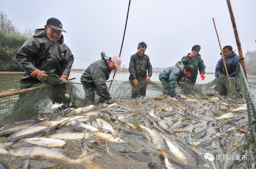
{"label": "dark green jacket of the standing man with red gloves", "polygon": [[[189,55],[189,54],[188,54]],[[205,73],[205,65],[204,65],[204,61],[201,58],[201,55],[198,54],[197,56],[183,56],[183,58],[180,60],[181,63],[183,63],[183,65],[192,65],[194,67],[194,71],[191,74],[191,76],[189,77],[189,81],[193,84],[195,84],[196,82],[196,78],[198,75],[198,71],[199,73]]]}

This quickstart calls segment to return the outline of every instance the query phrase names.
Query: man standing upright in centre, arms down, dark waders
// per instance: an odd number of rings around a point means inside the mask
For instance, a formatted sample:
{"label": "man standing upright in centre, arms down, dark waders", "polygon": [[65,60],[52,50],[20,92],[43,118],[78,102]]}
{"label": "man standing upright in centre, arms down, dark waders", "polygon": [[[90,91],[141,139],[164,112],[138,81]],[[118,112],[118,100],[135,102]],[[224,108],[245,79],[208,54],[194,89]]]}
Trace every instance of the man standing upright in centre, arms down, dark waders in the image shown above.
{"label": "man standing upright in centre, arms down, dark waders", "polygon": [[137,47],[138,52],[131,55],[128,70],[130,72],[129,82],[131,84],[132,99],[136,99],[138,96],[145,97],[147,82],[150,81],[152,76],[152,65],[148,55],[145,54],[146,49],[147,44],[140,42]]}

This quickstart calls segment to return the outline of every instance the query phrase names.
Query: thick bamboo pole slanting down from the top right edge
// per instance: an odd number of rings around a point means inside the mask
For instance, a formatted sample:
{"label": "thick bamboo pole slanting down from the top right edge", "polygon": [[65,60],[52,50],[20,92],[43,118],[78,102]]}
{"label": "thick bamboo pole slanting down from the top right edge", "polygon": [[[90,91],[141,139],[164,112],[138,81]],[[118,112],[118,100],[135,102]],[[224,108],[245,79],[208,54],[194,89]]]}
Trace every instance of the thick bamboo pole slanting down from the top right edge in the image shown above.
{"label": "thick bamboo pole slanting down from the top right edge", "polygon": [[[233,25],[234,34],[235,34],[235,37],[236,37],[236,45],[237,45],[237,50],[238,50],[239,58],[243,58],[243,52],[242,52],[242,48],[241,48],[241,43],[240,43],[240,39],[239,39],[237,28],[236,28],[236,21],[235,21],[235,17],[234,17],[234,14],[233,14],[233,10],[232,10],[232,7],[231,7],[230,0],[227,0],[227,7],[228,7],[228,10],[229,10],[229,13],[230,13],[230,19],[231,19],[231,22],[232,22],[232,25]],[[242,68],[244,70],[244,76],[246,77],[246,80],[247,80],[247,74],[246,74],[246,69],[245,69],[245,65],[244,65],[244,59],[240,59],[240,63],[241,63]]]}

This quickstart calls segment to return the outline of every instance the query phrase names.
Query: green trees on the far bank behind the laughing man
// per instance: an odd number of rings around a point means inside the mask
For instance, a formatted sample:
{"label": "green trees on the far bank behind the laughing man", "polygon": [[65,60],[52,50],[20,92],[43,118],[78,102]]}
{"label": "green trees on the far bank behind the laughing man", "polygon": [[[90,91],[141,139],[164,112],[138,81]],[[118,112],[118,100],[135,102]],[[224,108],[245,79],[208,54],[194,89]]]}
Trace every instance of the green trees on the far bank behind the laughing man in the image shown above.
{"label": "green trees on the far bank behind the laughing man", "polygon": [[16,60],[16,53],[31,35],[29,29],[20,32],[7,15],[0,11],[0,71],[23,71]]}

